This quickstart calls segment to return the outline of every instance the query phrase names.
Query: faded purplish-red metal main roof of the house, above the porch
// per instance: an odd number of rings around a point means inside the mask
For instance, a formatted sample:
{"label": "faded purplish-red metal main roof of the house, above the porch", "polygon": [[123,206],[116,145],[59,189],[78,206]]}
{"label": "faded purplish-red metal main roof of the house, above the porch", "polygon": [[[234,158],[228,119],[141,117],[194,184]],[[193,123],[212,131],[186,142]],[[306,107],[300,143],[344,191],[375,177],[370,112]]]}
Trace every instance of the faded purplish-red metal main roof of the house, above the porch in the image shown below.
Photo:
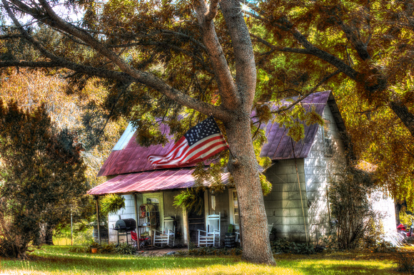
{"label": "faded purplish-red metal main roof of the house, above the porch", "polygon": [[[293,100],[294,99],[295,98],[293,98]],[[327,103],[328,105],[332,105],[332,107],[330,106],[330,109],[332,110],[335,120],[338,119],[338,121],[335,122],[337,123],[339,130],[345,130],[343,120],[340,118],[338,107],[336,106],[330,91],[313,93],[302,101],[306,110],[310,110],[310,108],[314,106],[319,115],[323,114],[323,110]],[[274,123],[273,121],[269,121],[263,128],[266,130],[268,142],[263,145],[261,156],[270,157],[271,160],[307,157],[318,131],[318,125],[305,125],[305,137],[298,142],[293,142],[292,147],[291,137],[288,137],[288,130],[286,128],[280,127],[278,123]],[[169,133],[168,126],[161,125],[161,132]],[[123,137],[117,142],[111,155],[109,155],[108,159],[104,162],[98,176],[158,170],[148,162],[148,155],[165,155],[174,144],[173,137],[168,135],[170,142],[168,142],[165,147],[162,145],[142,147],[136,143],[135,137],[136,134],[134,133],[132,135],[131,129],[127,128],[126,133],[124,133]],[[295,152],[295,156],[293,155],[293,152]]]}

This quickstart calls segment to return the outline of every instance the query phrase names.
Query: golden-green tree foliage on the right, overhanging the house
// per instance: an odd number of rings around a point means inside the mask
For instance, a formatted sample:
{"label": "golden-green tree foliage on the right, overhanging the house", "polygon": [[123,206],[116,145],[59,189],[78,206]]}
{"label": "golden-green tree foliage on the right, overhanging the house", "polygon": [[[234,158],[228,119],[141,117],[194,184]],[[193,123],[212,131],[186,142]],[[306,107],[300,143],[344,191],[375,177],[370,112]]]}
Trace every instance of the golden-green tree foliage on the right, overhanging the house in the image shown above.
{"label": "golden-green tree foliage on the right, overhanging the house", "polygon": [[[338,100],[356,157],[376,165],[378,183],[413,207],[412,1],[254,3],[246,13],[256,63],[268,76],[263,97],[309,93],[324,82]],[[284,66],[276,64],[281,60]]]}

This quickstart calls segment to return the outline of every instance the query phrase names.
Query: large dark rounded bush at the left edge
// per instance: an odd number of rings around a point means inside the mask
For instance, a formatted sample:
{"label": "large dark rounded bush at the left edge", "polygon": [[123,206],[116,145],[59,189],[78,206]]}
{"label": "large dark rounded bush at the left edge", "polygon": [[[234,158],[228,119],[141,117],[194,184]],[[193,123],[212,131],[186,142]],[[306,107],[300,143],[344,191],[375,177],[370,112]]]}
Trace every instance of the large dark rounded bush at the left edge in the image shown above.
{"label": "large dark rounded bush at the left edge", "polygon": [[41,224],[70,217],[68,205],[88,189],[81,150],[76,133],[58,132],[44,105],[30,112],[0,100],[1,255],[24,258]]}

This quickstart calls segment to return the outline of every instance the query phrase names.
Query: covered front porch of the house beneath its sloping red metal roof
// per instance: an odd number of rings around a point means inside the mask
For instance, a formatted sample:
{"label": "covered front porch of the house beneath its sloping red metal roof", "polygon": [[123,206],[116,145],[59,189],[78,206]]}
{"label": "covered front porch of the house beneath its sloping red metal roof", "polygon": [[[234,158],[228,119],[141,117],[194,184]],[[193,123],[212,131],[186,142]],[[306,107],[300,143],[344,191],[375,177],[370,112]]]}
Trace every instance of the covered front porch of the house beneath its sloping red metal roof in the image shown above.
{"label": "covered front porch of the house beneath its sloping red metal roof", "polygon": [[[164,222],[173,217],[175,236],[170,247],[188,247],[188,240],[197,245],[198,229],[207,229],[209,215],[220,214],[221,244],[219,246],[222,246],[230,224],[233,224],[230,227],[232,230],[239,229],[236,191],[233,188],[226,188],[223,192],[212,192],[209,188],[211,182],[204,182],[206,190],[201,197],[202,213],[187,212],[181,207],[174,206],[173,199],[183,190],[196,185],[192,172],[191,168],[180,168],[128,173],[117,175],[89,190],[88,194],[97,197],[105,194],[120,194],[125,198],[125,208],[108,215],[109,242],[131,243],[131,233],[122,234],[115,229],[120,217],[134,219],[136,221],[134,232],[138,234],[141,242],[145,242],[141,243],[140,247],[153,249],[154,234],[157,234],[154,230],[163,232]],[[228,185],[228,174],[223,174],[222,182]],[[148,206],[151,206],[151,211]],[[166,248],[166,246],[162,247]]]}

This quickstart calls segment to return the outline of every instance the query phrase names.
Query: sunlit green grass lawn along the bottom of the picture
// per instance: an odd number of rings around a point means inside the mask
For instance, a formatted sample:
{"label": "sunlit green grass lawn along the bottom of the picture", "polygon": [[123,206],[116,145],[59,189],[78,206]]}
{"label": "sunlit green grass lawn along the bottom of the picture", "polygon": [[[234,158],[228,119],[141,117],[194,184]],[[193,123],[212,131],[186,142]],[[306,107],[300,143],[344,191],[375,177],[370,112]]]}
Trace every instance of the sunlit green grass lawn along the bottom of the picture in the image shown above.
{"label": "sunlit green grass lawn along the bottom of the picture", "polygon": [[249,264],[240,256],[123,256],[69,252],[45,246],[26,261],[1,259],[0,274],[395,274],[390,255],[278,255],[277,266]]}

